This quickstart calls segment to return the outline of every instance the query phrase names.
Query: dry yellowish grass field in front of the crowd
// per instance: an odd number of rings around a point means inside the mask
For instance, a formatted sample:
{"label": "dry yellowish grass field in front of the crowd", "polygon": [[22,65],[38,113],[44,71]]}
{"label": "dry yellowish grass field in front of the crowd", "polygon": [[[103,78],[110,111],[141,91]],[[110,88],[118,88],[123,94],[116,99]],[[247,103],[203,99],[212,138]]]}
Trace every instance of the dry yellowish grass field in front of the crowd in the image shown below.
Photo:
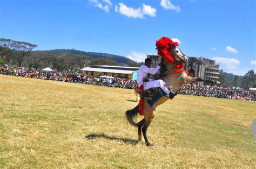
{"label": "dry yellowish grass field in front of the crowd", "polygon": [[0,89],[0,168],[256,167],[256,102],[178,95],[146,147],[125,118],[133,90],[5,75]]}

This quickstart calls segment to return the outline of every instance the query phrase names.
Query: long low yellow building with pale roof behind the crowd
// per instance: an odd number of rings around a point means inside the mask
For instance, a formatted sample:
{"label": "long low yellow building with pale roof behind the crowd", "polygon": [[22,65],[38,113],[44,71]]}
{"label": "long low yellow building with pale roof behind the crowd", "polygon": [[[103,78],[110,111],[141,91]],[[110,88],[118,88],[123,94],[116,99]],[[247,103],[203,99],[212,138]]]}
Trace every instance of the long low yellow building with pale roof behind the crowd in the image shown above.
{"label": "long low yellow building with pale roof behind the crowd", "polygon": [[89,66],[80,69],[83,71],[83,74],[87,75],[106,75],[112,76],[114,78],[133,78],[133,74],[136,74],[139,67],[123,67],[123,66],[108,66],[108,65],[101,65],[101,66]]}

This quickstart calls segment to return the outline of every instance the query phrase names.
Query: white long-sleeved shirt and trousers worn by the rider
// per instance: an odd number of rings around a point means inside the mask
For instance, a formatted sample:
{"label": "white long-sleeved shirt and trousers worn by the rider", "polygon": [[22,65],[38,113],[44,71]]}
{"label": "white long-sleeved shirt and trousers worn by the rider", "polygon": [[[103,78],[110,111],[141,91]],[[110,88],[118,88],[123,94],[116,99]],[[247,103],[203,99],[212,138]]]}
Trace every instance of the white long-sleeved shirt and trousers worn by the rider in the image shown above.
{"label": "white long-sleeved shirt and trousers worn by the rider", "polygon": [[138,75],[137,75],[138,86],[140,87],[143,84],[144,90],[150,89],[152,87],[160,87],[165,91],[166,94],[169,94],[170,90],[166,88],[165,82],[163,80],[152,80],[152,81],[143,83],[143,79],[146,78],[148,74],[156,74],[159,69],[160,69],[160,66],[157,66],[154,69],[151,69],[146,65],[140,66]]}

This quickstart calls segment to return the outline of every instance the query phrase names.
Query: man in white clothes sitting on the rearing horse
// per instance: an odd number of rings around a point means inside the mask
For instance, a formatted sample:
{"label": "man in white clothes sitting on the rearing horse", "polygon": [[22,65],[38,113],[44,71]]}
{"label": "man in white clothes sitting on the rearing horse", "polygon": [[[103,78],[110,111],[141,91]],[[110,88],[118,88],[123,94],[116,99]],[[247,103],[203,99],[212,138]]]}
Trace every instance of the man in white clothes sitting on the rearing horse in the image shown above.
{"label": "man in white clothes sitting on the rearing horse", "polygon": [[156,68],[150,68],[152,60],[150,58],[145,59],[145,64],[139,67],[137,83],[139,89],[147,90],[154,87],[160,87],[164,92],[172,99],[175,94],[170,90],[170,87],[163,80],[149,81],[150,74],[156,74],[160,69],[160,64]]}

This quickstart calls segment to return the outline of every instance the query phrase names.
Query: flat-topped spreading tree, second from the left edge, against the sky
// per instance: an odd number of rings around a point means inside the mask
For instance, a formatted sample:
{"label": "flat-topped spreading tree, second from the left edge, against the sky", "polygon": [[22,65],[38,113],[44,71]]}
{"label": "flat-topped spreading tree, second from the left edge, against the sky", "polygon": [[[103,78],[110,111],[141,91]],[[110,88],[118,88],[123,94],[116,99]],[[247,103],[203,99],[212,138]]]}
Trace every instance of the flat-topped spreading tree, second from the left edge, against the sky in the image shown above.
{"label": "flat-topped spreading tree, second from the left edge, against the sky", "polygon": [[17,60],[18,67],[21,67],[26,55],[28,55],[33,48],[37,47],[37,45],[26,43],[24,41],[12,40],[12,47],[17,52],[15,59]]}

